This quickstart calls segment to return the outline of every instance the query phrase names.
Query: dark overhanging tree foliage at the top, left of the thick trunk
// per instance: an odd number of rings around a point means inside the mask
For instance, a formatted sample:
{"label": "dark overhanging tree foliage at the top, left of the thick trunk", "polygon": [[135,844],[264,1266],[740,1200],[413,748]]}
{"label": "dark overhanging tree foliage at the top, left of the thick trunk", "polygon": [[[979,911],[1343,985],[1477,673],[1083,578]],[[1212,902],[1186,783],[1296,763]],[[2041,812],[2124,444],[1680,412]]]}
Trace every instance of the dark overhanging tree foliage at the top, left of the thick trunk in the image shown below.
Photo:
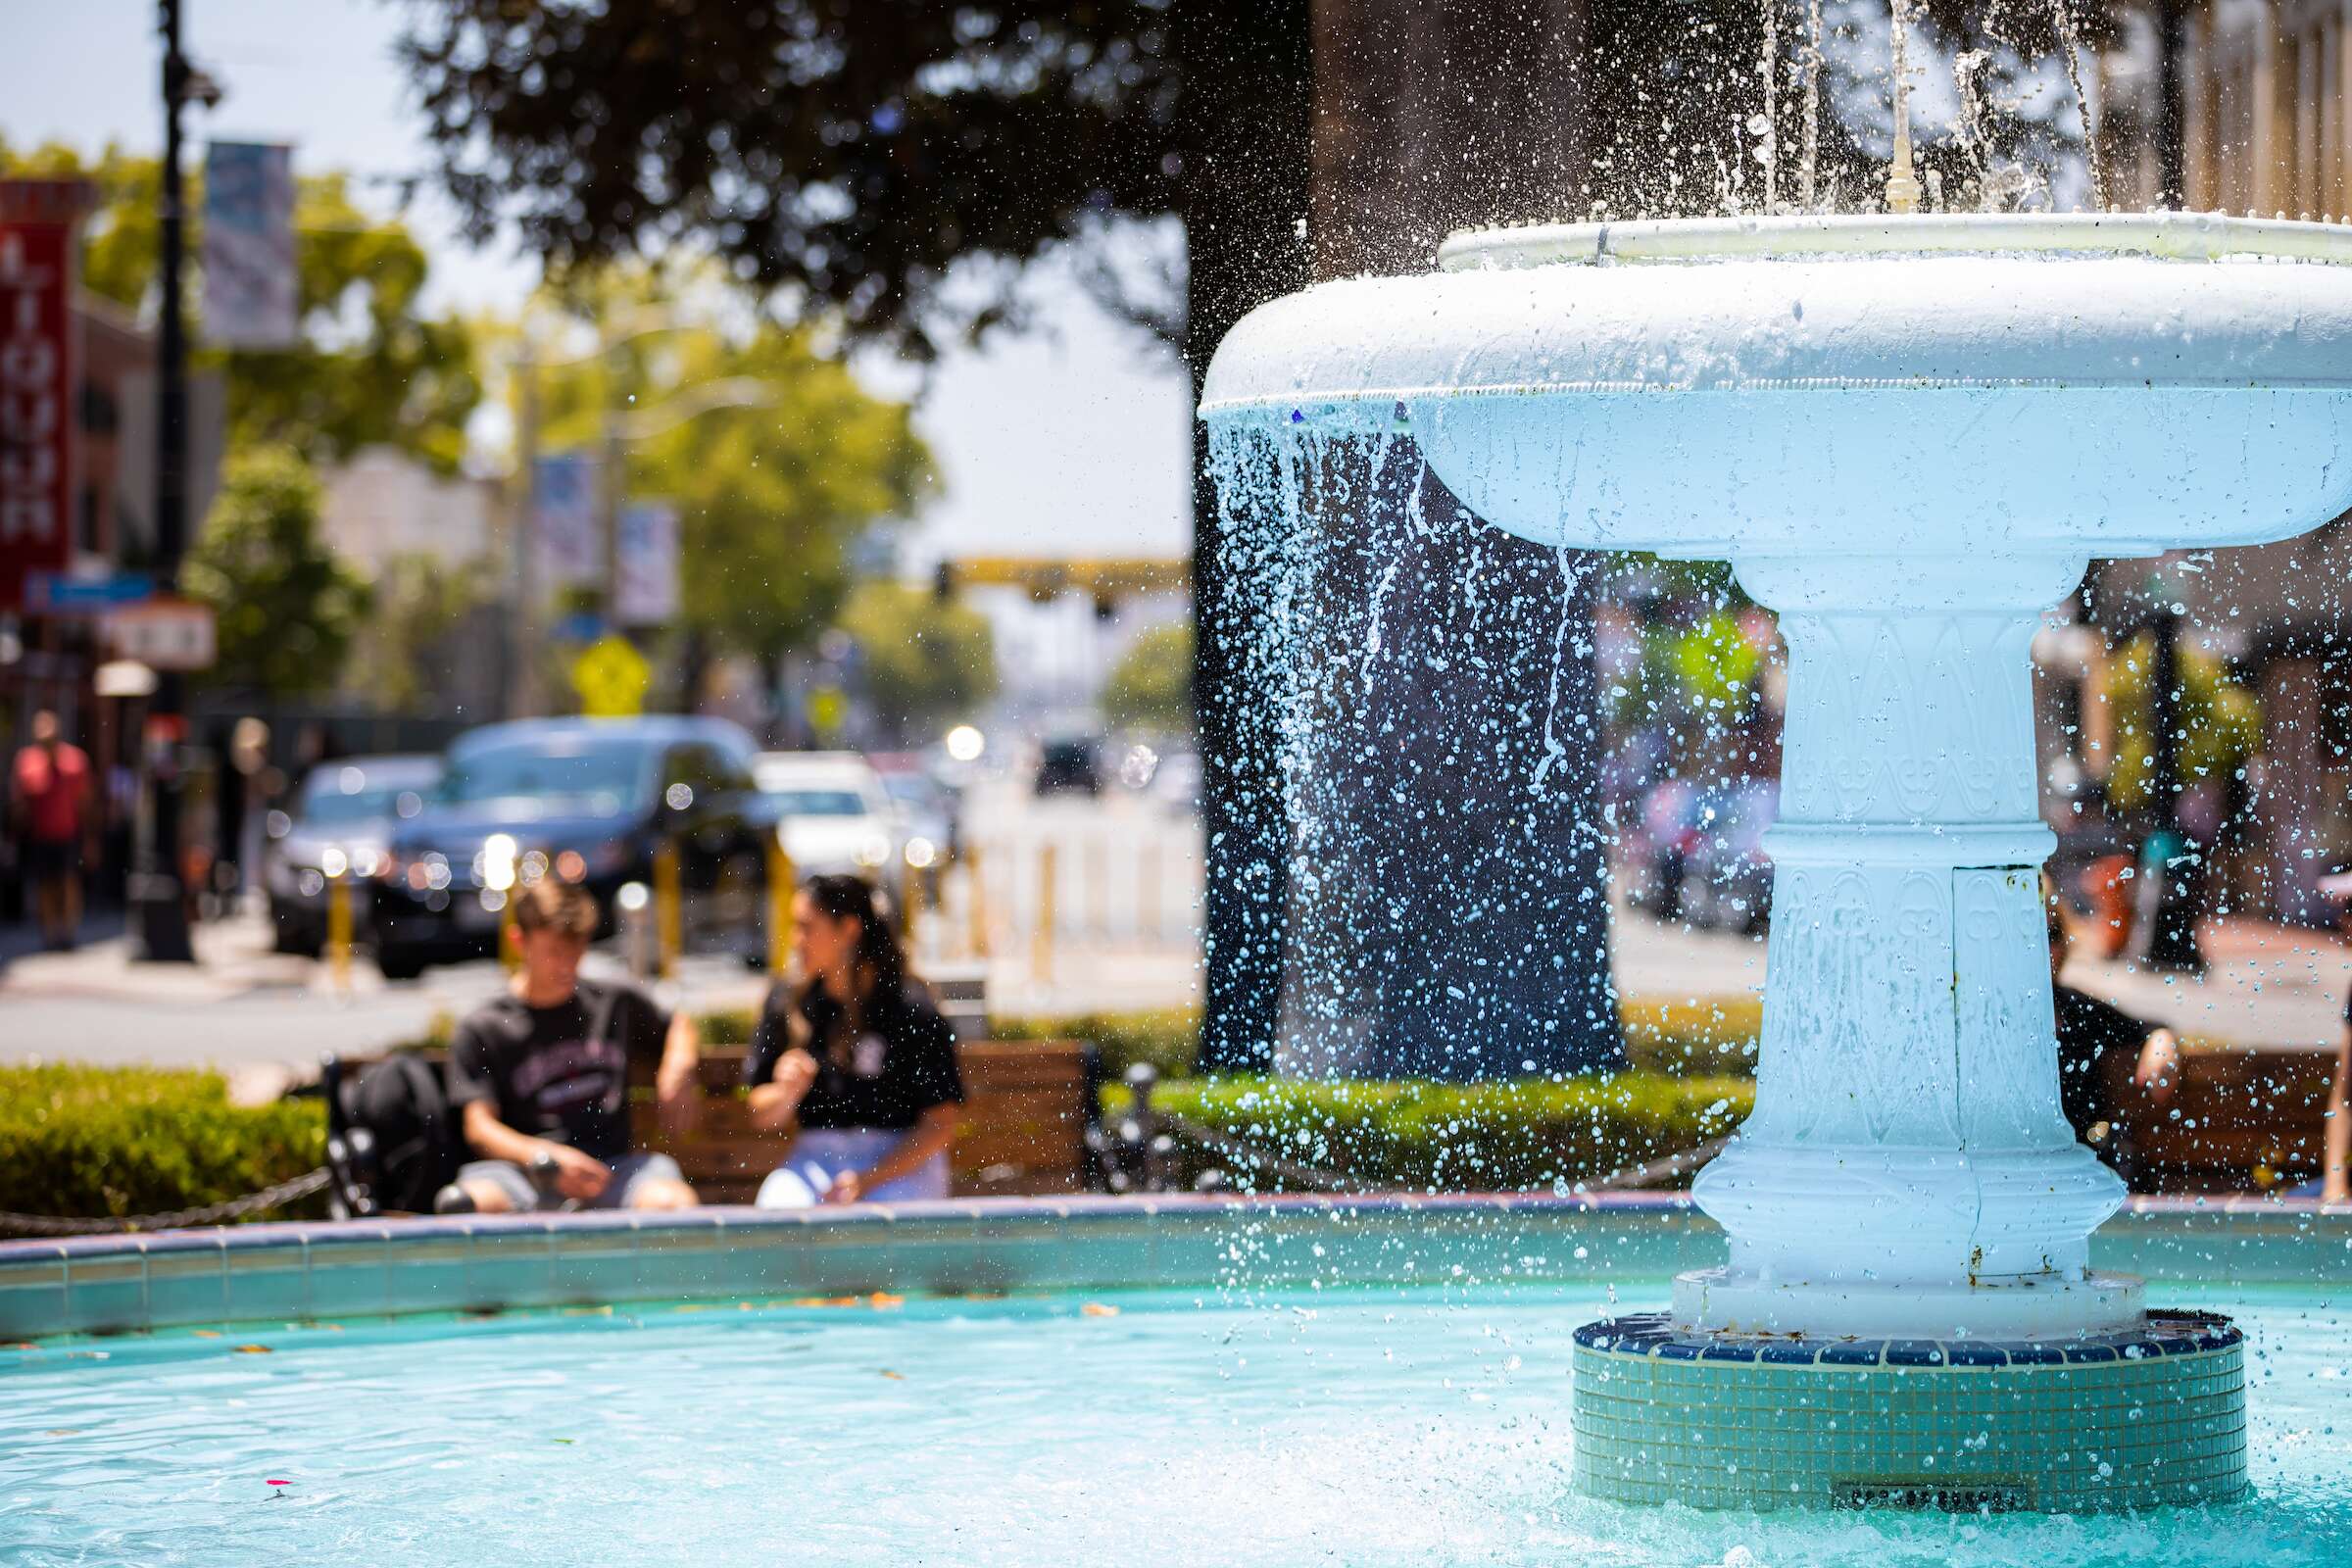
{"label": "dark overhanging tree foliage at the top, left of the thick trunk", "polygon": [[402,54],[477,235],[557,266],[708,244],[931,353],[1011,308],[943,292],[1176,205],[1167,0],[416,0]]}

